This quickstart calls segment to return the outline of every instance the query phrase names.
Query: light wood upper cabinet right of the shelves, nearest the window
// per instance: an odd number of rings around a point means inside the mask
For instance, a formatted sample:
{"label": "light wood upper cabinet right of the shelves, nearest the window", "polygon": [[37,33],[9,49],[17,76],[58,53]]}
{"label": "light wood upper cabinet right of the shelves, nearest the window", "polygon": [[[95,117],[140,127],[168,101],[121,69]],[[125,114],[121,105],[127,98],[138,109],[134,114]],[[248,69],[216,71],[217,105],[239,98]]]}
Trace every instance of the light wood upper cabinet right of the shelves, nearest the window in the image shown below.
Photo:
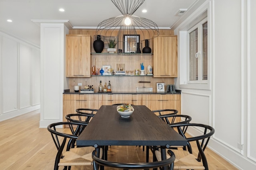
{"label": "light wood upper cabinet right of the shelves, nearest the window", "polygon": [[159,35],[153,40],[154,77],[178,77],[177,35]]}

